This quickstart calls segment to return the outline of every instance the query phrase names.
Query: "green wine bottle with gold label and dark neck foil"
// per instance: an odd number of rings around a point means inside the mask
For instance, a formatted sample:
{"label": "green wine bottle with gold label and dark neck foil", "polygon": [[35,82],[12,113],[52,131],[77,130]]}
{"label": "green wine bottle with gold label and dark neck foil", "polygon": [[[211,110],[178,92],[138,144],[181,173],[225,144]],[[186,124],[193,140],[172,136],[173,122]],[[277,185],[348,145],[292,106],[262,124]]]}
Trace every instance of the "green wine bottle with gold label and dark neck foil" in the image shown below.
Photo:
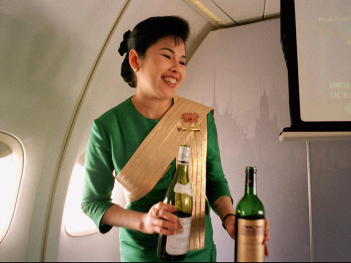
{"label": "green wine bottle with gold label and dark neck foil", "polygon": [[245,195],[235,210],[235,262],[263,262],[265,210],[256,194],[256,167],[246,167]]}

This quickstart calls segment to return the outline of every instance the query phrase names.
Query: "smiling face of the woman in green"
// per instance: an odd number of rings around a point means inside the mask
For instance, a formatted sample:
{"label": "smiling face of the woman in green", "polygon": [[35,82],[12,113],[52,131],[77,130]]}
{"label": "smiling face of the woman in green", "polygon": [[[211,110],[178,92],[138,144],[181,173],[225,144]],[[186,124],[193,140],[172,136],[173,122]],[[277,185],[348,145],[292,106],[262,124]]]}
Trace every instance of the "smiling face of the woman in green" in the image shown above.
{"label": "smiling face of the woman in green", "polygon": [[137,92],[149,99],[171,99],[186,76],[185,45],[165,37],[147,49],[137,72]]}

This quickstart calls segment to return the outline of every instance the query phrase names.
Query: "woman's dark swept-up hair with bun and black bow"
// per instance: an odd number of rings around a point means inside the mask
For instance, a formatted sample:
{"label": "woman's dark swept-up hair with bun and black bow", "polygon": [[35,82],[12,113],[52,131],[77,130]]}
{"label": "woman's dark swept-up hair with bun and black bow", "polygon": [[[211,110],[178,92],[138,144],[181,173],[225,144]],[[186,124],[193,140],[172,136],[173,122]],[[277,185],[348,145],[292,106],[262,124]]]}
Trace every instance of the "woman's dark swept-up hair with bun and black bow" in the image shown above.
{"label": "woman's dark swept-up hair with bun and black bow", "polygon": [[136,87],[135,73],[129,65],[129,52],[135,49],[139,57],[143,59],[146,50],[164,37],[171,37],[175,45],[184,42],[186,44],[190,34],[189,23],[180,17],[152,17],[137,24],[133,31],[127,31],[123,35],[123,41],[118,49],[125,58],[121,66],[123,80],[132,88]]}

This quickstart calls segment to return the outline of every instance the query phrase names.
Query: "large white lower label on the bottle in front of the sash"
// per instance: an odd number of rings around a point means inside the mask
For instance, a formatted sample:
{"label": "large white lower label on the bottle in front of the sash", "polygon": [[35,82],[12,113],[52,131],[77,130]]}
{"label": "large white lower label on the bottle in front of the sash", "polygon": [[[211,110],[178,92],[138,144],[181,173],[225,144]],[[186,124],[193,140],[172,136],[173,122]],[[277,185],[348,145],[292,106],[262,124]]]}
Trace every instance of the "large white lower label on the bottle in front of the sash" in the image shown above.
{"label": "large white lower label on the bottle in front of the sash", "polygon": [[192,217],[179,217],[183,229],[174,232],[173,235],[167,235],[166,252],[170,255],[183,255],[188,252],[190,227],[192,226]]}

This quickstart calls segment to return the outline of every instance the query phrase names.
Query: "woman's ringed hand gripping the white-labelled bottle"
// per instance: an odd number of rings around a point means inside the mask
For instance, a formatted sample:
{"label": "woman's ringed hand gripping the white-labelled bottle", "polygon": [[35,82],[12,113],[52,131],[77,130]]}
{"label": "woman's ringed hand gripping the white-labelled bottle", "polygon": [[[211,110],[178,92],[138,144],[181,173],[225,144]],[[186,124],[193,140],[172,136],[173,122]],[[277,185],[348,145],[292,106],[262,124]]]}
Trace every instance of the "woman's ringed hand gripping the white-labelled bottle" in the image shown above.
{"label": "woman's ringed hand gripping the white-labelled bottle", "polygon": [[172,204],[163,202],[154,204],[142,218],[141,231],[147,234],[174,234],[174,230],[183,228],[181,220],[173,214],[176,210]]}

